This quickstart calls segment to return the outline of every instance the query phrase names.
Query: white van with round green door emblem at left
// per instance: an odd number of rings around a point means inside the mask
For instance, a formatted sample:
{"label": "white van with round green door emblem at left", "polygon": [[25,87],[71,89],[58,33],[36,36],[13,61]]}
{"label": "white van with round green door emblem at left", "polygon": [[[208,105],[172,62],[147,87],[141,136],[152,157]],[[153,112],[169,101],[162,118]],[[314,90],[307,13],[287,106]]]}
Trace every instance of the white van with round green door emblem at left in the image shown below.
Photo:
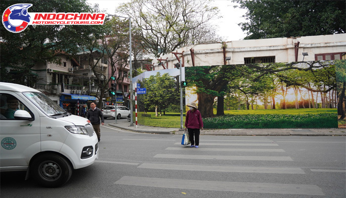
{"label": "white van with round green door emblem at left", "polygon": [[67,182],[73,169],[98,157],[86,118],[71,115],[43,93],[0,82],[0,171],[27,171],[45,187]]}

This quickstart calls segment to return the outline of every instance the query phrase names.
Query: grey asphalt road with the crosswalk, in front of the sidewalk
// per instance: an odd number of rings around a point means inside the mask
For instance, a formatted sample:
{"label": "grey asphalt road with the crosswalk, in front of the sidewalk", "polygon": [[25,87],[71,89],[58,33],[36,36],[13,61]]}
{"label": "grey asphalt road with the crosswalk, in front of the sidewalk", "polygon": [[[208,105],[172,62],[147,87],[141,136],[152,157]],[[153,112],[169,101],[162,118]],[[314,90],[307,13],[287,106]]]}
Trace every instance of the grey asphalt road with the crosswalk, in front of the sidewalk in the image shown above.
{"label": "grey asphalt road with the crosswalk, in front of the sidewalk", "polygon": [[181,135],[103,126],[99,159],[75,170],[64,186],[42,188],[25,181],[25,172],[5,172],[0,197],[346,197],[343,136],[201,136],[200,148],[180,142]]}

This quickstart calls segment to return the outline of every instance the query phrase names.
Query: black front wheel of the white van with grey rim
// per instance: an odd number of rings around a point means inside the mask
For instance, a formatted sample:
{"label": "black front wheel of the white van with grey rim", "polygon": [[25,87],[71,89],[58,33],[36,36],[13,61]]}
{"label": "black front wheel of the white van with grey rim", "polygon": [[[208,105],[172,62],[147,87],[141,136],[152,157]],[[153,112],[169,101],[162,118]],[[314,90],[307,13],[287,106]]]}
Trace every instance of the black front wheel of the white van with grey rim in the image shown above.
{"label": "black front wheel of the white van with grey rim", "polygon": [[32,177],[43,187],[59,187],[65,184],[72,175],[70,163],[57,154],[38,156],[30,168]]}

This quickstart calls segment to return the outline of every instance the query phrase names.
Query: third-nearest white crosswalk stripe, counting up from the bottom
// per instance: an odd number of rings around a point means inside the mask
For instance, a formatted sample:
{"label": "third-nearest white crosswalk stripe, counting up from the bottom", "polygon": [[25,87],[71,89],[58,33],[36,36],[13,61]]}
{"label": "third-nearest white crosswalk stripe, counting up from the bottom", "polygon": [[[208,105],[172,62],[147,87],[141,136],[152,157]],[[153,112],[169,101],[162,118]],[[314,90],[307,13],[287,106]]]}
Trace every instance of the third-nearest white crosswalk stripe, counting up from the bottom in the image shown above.
{"label": "third-nearest white crosswalk stripe, counting up from the bottom", "polygon": [[156,154],[156,158],[175,159],[223,159],[223,160],[263,160],[263,161],[293,161],[288,156],[232,156],[232,155],[188,155],[188,154]]}

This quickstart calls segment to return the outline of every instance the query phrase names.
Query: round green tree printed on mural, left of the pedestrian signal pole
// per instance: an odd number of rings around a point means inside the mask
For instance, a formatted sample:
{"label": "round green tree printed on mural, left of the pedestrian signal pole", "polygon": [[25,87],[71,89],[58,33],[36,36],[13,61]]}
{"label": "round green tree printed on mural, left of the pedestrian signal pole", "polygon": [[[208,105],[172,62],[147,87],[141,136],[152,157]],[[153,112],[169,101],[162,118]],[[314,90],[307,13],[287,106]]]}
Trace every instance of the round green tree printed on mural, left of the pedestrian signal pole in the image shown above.
{"label": "round green tree printed on mural, left of the pedestrian signal pole", "polygon": [[139,105],[143,105],[145,111],[155,108],[155,116],[158,116],[158,110],[166,109],[171,104],[179,102],[179,94],[173,88],[175,86],[173,77],[168,73],[160,75],[158,72],[155,76],[139,81],[142,88],[146,88],[146,94],[138,96]]}

